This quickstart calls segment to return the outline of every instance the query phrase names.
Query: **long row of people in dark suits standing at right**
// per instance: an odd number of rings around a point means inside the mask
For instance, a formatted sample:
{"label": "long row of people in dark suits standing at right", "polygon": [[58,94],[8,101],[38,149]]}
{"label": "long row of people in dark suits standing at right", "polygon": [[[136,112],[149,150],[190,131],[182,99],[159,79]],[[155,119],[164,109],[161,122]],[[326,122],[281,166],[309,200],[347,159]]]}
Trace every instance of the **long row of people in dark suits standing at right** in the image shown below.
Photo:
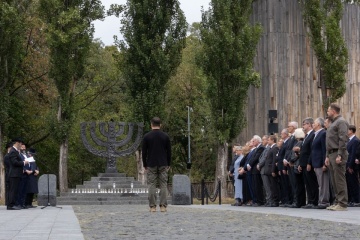
{"label": "long row of people in dark suits standing at right", "polygon": [[346,211],[360,206],[360,141],[331,104],[327,118],[291,121],[280,133],[233,146],[233,206]]}

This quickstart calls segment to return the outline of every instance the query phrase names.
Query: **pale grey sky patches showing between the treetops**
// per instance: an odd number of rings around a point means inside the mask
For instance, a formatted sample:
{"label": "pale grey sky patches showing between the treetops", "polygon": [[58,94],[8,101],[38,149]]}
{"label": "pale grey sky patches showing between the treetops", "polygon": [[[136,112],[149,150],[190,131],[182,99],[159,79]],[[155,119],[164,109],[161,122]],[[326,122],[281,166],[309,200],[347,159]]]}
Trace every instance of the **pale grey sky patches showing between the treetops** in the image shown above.
{"label": "pale grey sky patches showing between the treetops", "polygon": [[[201,6],[205,10],[209,8],[210,0],[179,0],[180,7],[184,11],[186,20],[189,24],[201,21]],[[108,10],[110,4],[125,4],[126,0],[102,0],[105,9]],[[104,21],[95,21],[94,38],[99,38],[105,45],[113,45],[114,35],[120,37],[120,19],[114,16],[106,17]]]}

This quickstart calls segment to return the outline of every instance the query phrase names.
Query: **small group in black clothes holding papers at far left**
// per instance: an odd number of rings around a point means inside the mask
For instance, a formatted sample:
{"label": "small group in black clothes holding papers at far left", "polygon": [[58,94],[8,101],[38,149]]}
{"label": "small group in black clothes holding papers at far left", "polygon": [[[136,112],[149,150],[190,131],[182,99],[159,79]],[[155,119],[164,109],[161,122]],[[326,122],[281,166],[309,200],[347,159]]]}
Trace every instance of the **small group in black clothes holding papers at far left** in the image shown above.
{"label": "small group in black clothes holding papers at far left", "polygon": [[38,193],[35,149],[26,151],[26,145],[20,138],[6,145],[5,166],[5,205],[7,210],[34,208],[34,194]]}

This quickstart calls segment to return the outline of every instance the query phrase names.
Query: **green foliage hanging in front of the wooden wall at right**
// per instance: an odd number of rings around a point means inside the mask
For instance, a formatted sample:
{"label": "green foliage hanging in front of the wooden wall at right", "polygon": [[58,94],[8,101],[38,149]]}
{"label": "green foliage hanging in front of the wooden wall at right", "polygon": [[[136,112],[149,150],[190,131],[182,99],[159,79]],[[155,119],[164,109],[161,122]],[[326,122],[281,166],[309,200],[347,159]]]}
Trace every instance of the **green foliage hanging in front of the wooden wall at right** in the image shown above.
{"label": "green foliage hanging in front of the wooden wall at right", "polygon": [[323,108],[346,92],[348,50],[341,33],[342,0],[302,0],[304,20],[319,61]]}

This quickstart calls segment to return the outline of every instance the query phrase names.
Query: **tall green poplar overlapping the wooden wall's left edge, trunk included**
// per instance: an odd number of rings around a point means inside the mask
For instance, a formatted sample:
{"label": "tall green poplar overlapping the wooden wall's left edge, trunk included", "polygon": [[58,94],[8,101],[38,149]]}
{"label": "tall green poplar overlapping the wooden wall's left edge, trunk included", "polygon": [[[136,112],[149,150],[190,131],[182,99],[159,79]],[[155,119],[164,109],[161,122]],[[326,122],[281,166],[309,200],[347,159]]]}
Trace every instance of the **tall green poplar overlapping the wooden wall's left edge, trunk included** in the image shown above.
{"label": "tall green poplar overlapping the wooden wall's left edge, trunk included", "polygon": [[245,126],[247,92],[260,86],[260,76],[253,69],[261,26],[249,23],[253,0],[212,0],[202,12],[201,61],[208,77],[208,97],[215,123],[218,149],[216,179],[222,182],[226,196],[228,143]]}

